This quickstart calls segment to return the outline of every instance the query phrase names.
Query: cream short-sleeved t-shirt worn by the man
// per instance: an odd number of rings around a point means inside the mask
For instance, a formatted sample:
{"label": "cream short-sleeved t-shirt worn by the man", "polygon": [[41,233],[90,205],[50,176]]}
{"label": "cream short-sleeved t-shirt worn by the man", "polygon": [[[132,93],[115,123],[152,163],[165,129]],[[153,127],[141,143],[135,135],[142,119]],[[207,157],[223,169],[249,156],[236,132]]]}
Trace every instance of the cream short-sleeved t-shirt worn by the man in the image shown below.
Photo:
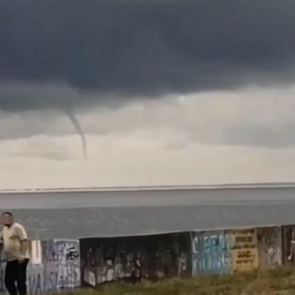
{"label": "cream short-sleeved t-shirt worn by the man", "polygon": [[[27,240],[27,232],[24,227],[15,222],[10,227],[4,226],[0,233],[0,239],[3,240],[3,253],[7,261],[17,260],[20,257],[21,242]],[[25,258],[29,258],[29,251],[26,251]]]}

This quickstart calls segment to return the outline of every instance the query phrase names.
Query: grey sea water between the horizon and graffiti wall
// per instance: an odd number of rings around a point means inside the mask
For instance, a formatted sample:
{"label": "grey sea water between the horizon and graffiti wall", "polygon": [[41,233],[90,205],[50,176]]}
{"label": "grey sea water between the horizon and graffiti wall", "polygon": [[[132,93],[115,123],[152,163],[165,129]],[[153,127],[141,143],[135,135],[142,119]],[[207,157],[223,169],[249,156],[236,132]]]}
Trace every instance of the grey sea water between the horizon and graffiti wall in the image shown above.
{"label": "grey sea water between the horizon and graffiti wall", "polygon": [[0,194],[31,239],[295,223],[295,188]]}

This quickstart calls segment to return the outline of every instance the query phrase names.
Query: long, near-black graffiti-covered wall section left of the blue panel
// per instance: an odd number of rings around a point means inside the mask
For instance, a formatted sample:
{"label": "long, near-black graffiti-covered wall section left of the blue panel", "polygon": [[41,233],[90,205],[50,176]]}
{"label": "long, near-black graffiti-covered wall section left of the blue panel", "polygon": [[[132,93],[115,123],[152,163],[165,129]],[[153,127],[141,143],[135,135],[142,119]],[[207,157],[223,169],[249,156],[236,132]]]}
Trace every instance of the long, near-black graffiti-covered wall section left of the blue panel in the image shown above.
{"label": "long, near-black graffiti-covered wall section left of the blue panel", "polygon": [[92,286],[191,275],[189,232],[81,239],[80,251],[82,282]]}

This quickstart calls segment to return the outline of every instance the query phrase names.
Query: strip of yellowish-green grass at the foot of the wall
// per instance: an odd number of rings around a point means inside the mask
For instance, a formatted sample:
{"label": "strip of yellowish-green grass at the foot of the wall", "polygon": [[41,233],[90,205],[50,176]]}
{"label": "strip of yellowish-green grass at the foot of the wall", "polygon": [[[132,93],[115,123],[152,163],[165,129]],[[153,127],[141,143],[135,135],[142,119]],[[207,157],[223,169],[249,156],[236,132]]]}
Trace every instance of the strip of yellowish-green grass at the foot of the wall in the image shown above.
{"label": "strip of yellowish-green grass at the foot of the wall", "polygon": [[79,289],[67,295],[295,295],[295,267],[235,274],[173,278],[132,286],[111,283],[96,289]]}

